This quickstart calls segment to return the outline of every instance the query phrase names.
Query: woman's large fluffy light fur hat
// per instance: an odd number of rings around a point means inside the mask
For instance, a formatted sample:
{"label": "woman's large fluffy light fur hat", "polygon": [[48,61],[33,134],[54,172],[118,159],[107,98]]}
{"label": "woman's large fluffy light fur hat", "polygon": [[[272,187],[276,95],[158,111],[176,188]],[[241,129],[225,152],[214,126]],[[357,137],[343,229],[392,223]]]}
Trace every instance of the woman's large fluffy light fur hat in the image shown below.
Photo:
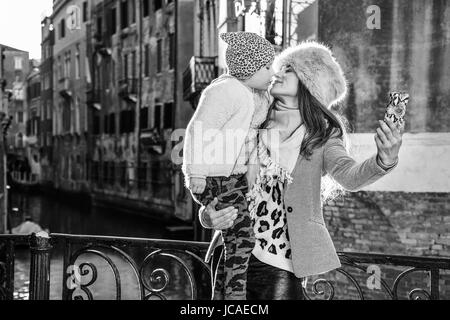
{"label": "woman's large fluffy light fur hat", "polygon": [[309,92],[330,108],[347,94],[344,72],[331,50],[315,41],[286,49],[275,59],[275,69],[291,66]]}

